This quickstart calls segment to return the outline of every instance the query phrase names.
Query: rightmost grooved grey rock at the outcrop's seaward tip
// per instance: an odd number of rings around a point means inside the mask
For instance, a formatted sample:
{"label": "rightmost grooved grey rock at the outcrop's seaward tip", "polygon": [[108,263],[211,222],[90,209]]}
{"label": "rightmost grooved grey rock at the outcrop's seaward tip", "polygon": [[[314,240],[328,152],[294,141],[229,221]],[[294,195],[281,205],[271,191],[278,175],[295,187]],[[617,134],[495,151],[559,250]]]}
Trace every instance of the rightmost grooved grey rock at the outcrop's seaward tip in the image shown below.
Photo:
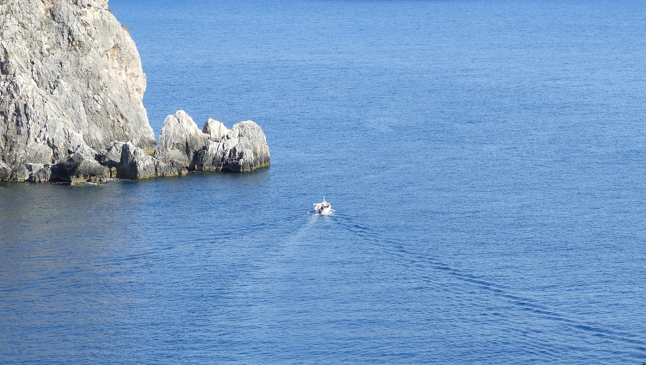
{"label": "rightmost grooved grey rock at the outcrop's seaward tip", "polygon": [[251,120],[241,121],[219,142],[209,140],[197,153],[200,171],[247,172],[269,166],[269,146],[264,132]]}

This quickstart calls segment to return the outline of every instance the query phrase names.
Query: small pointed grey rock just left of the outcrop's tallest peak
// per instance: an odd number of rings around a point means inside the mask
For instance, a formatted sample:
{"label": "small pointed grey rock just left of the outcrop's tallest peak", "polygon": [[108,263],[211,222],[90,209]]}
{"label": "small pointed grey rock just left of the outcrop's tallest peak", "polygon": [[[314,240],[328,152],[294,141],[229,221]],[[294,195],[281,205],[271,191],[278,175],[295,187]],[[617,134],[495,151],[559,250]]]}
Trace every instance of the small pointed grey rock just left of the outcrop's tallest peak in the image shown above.
{"label": "small pointed grey rock just left of the outcrop's tallest peak", "polygon": [[177,161],[163,162],[146,154],[143,149],[129,142],[123,145],[118,176],[129,179],[145,179],[155,176],[178,176],[187,174],[187,169]]}

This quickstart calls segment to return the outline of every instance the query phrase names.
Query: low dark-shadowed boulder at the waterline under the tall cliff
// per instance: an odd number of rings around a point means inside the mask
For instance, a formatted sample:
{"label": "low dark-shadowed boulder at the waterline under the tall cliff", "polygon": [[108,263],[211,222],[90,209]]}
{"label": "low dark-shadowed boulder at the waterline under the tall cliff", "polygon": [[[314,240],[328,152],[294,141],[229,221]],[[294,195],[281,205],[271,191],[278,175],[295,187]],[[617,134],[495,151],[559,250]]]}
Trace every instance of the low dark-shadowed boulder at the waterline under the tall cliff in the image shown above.
{"label": "low dark-shadowed boulder at the waterline under the tall cliff", "polygon": [[51,180],[68,182],[72,185],[94,182],[102,183],[109,178],[109,169],[101,166],[94,158],[87,158],[81,153],[72,154],[70,158],[52,166]]}

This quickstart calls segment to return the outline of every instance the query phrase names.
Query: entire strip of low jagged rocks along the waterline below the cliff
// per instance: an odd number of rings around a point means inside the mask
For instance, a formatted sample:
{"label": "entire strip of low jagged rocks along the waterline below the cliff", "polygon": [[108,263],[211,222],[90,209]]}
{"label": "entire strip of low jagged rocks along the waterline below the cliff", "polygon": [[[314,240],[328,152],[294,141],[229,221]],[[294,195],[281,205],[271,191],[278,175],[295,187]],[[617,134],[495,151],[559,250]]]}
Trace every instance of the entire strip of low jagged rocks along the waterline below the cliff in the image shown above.
{"label": "entire strip of low jagged rocks along the waterline below the cliff", "polygon": [[154,154],[135,139],[113,141],[105,149],[87,154],[77,151],[59,163],[26,163],[9,167],[0,162],[0,181],[103,183],[109,178],[140,180],[182,176],[189,171],[248,172],[270,163],[269,146],[260,126],[241,121],[227,129],[209,119],[203,130],[183,110],[169,115],[161,129]]}

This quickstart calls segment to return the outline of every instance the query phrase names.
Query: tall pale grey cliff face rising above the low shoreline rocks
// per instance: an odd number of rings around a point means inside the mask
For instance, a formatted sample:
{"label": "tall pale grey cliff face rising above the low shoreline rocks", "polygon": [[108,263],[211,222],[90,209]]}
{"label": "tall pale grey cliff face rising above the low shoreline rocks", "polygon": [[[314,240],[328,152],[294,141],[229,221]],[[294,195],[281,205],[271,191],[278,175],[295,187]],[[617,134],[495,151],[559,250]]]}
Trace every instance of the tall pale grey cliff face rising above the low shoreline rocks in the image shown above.
{"label": "tall pale grey cliff face rising above the low shoreline rocks", "polygon": [[[134,42],[105,0],[0,1],[0,161],[59,163],[79,147],[155,140]],[[87,153],[84,153],[87,154]]]}

